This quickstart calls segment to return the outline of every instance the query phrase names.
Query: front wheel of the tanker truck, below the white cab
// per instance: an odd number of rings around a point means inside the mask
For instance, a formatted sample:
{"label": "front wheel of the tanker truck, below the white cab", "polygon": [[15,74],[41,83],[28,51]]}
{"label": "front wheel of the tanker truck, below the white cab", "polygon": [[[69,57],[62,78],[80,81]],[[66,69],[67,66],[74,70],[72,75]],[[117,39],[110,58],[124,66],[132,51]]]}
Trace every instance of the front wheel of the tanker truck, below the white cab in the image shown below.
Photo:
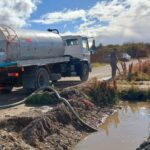
{"label": "front wheel of the tanker truck, below the white cab", "polygon": [[80,70],[80,79],[81,81],[87,81],[89,77],[89,66],[86,63],[83,63]]}

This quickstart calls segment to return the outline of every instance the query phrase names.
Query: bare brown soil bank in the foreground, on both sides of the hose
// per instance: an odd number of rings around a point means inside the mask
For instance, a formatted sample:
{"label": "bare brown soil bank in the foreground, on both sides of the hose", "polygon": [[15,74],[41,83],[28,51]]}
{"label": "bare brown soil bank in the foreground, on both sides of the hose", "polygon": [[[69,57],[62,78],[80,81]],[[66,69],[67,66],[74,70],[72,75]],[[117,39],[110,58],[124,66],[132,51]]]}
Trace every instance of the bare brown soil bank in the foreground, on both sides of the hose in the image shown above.
{"label": "bare brown soil bank in the foreground, on both sides of the hose", "polygon": [[[97,128],[102,119],[113,113],[112,108],[97,108],[80,93],[63,93],[79,116]],[[75,98],[76,96],[76,98]],[[43,108],[44,109],[44,108]],[[0,149],[6,150],[68,150],[91,133],[82,126],[64,104],[52,110],[29,109],[21,114],[1,118]]]}

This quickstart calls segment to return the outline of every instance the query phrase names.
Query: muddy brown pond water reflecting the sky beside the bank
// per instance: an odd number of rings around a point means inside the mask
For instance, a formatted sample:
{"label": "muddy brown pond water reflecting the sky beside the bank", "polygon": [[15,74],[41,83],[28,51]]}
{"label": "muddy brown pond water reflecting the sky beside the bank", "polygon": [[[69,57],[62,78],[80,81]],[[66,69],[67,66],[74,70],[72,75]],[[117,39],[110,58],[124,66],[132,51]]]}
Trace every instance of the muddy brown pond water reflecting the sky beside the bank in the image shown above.
{"label": "muddy brown pond water reflecting the sky beside the bank", "polygon": [[135,150],[150,133],[150,103],[123,104],[73,150]]}

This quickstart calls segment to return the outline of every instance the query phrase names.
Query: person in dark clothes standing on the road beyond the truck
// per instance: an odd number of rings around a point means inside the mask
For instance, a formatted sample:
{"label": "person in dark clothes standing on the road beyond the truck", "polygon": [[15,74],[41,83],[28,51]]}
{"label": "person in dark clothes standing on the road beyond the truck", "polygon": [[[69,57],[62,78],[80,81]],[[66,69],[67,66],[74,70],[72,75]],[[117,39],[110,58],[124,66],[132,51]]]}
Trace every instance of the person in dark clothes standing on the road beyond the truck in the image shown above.
{"label": "person in dark clothes standing on the road beyond the truck", "polygon": [[116,77],[117,62],[118,62],[118,58],[116,55],[116,49],[113,49],[110,54],[110,66],[111,66],[112,79],[115,79]]}

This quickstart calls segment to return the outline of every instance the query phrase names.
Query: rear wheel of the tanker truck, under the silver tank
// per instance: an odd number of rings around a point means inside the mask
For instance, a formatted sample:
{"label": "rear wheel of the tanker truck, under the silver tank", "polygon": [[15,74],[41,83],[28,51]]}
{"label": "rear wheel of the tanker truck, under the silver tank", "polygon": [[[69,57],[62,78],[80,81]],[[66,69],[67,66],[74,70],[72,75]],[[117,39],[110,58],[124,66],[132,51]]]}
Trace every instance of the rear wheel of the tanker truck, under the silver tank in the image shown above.
{"label": "rear wheel of the tanker truck, under the silver tank", "polygon": [[45,68],[39,68],[36,72],[36,89],[49,85],[49,74]]}

